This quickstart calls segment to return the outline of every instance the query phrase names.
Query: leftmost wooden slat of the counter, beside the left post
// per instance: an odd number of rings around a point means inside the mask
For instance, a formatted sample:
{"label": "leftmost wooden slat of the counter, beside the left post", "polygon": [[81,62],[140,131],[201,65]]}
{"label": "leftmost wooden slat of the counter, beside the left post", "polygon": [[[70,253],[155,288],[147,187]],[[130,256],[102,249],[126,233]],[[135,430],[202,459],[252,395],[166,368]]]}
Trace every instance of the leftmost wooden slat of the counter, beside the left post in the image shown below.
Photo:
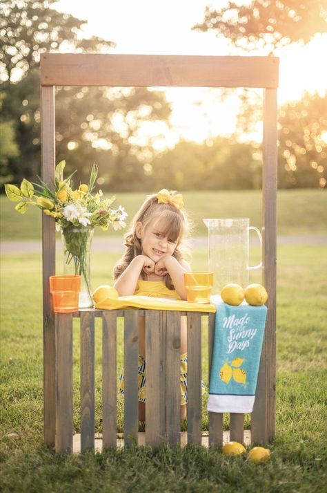
{"label": "leftmost wooden slat of the counter, beside the left post", "polygon": [[55,317],[56,452],[72,452],[72,314]]}

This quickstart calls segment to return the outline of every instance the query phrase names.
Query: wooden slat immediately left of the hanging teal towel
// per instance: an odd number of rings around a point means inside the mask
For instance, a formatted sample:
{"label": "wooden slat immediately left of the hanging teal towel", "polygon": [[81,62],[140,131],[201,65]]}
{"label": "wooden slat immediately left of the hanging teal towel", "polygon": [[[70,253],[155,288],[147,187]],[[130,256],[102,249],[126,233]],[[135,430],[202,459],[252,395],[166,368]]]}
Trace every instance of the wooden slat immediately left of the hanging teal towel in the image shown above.
{"label": "wooden slat immediately left of the hanging teal towel", "polygon": [[201,313],[188,313],[188,443],[201,445]]}

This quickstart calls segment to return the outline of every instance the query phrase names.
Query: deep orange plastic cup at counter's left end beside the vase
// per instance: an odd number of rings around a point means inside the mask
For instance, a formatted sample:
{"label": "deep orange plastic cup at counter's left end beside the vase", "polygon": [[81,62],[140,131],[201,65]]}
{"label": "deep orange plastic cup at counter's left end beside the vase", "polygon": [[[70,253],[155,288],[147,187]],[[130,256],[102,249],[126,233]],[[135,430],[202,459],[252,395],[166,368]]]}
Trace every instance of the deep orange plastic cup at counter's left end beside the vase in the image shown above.
{"label": "deep orange plastic cup at counter's left end beside the vase", "polygon": [[79,309],[81,276],[50,276],[50,292],[55,313],[73,313]]}

